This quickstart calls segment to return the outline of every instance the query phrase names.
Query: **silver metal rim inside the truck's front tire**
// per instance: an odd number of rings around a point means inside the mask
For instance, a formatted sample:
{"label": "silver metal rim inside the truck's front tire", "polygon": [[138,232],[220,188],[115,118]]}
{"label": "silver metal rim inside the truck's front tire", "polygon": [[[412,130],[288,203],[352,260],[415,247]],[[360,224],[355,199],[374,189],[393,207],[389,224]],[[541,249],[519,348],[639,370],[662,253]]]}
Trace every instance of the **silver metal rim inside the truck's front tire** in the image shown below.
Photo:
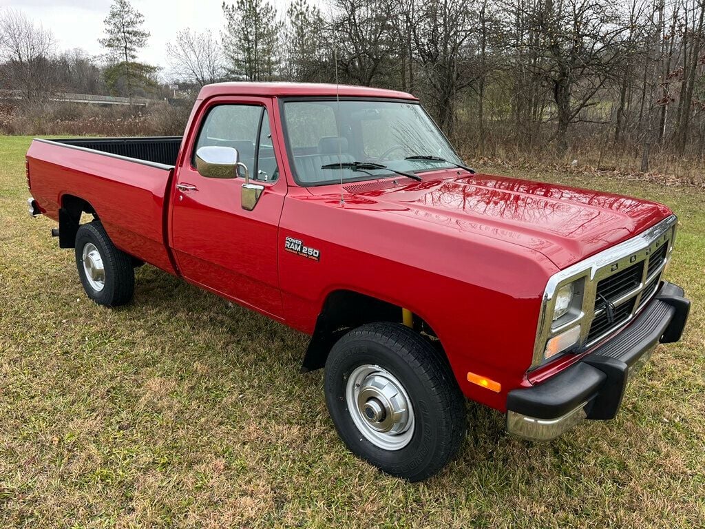
{"label": "silver metal rim inside the truck's front tire", "polygon": [[384,450],[400,450],[414,434],[414,409],[399,380],[379,365],[364,364],[350,373],[345,400],[357,430]]}

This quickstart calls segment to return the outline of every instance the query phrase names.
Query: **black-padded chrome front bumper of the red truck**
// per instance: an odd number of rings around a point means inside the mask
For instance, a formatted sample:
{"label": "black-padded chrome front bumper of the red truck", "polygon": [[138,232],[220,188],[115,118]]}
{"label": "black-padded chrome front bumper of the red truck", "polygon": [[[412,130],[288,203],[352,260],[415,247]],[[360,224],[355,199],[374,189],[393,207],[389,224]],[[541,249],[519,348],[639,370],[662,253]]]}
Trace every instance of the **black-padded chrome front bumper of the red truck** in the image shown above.
{"label": "black-padded chrome front bumper of the red truck", "polygon": [[622,332],[538,386],[507,396],[507,430],[548,441],[583,419],[617,414],[627,382],[658,343],[680,340],[690,309],[680,286],[663,282],[651,302]]}

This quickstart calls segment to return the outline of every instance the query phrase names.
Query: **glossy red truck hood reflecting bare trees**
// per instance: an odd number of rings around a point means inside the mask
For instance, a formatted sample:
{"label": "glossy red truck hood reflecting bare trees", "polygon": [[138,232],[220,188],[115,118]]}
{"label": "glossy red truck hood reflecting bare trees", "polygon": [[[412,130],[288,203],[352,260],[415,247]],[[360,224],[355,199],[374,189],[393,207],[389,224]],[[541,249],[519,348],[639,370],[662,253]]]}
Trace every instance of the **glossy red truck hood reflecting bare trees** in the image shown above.
{"label": "glossy red truck hood reflecting bare trees", "polygon": [[[453,178],[443,178],[453,174]],[[347,200],[501,239],[544,254],[559,269],[625,241],[668,217],[668,207],[634,197],[486,174],[434,171],[406,186],[345,186]],[[441,176],[441,179],[428,176]],[[350,203],[352,202],[352,203]]]}

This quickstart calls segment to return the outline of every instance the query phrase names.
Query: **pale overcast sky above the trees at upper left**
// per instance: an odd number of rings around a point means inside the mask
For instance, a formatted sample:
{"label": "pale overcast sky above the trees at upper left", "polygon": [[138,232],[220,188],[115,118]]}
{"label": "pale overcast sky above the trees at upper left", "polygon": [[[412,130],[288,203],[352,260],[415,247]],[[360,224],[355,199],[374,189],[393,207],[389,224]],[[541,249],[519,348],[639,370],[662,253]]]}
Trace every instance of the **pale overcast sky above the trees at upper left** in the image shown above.
{"label": "pale overcast sky above the trees at upper left", "polygon": [[[270,1],[277,6],[280,16],[290,4],[290,0]],[[103,36],[103,20],[111,3],[111,0],[0,0],[0,8],[23,11],[35,23],[50,29],[59,51],[82,48],[97,55],[104,52],[98,39]],[[166,66],[166,44],[178,30],[209,29],[218,36],[223,28],[222,0],[132,0],[131,3],[145,16],[145,29],[152,33],[139,60],[155,66]]]}

